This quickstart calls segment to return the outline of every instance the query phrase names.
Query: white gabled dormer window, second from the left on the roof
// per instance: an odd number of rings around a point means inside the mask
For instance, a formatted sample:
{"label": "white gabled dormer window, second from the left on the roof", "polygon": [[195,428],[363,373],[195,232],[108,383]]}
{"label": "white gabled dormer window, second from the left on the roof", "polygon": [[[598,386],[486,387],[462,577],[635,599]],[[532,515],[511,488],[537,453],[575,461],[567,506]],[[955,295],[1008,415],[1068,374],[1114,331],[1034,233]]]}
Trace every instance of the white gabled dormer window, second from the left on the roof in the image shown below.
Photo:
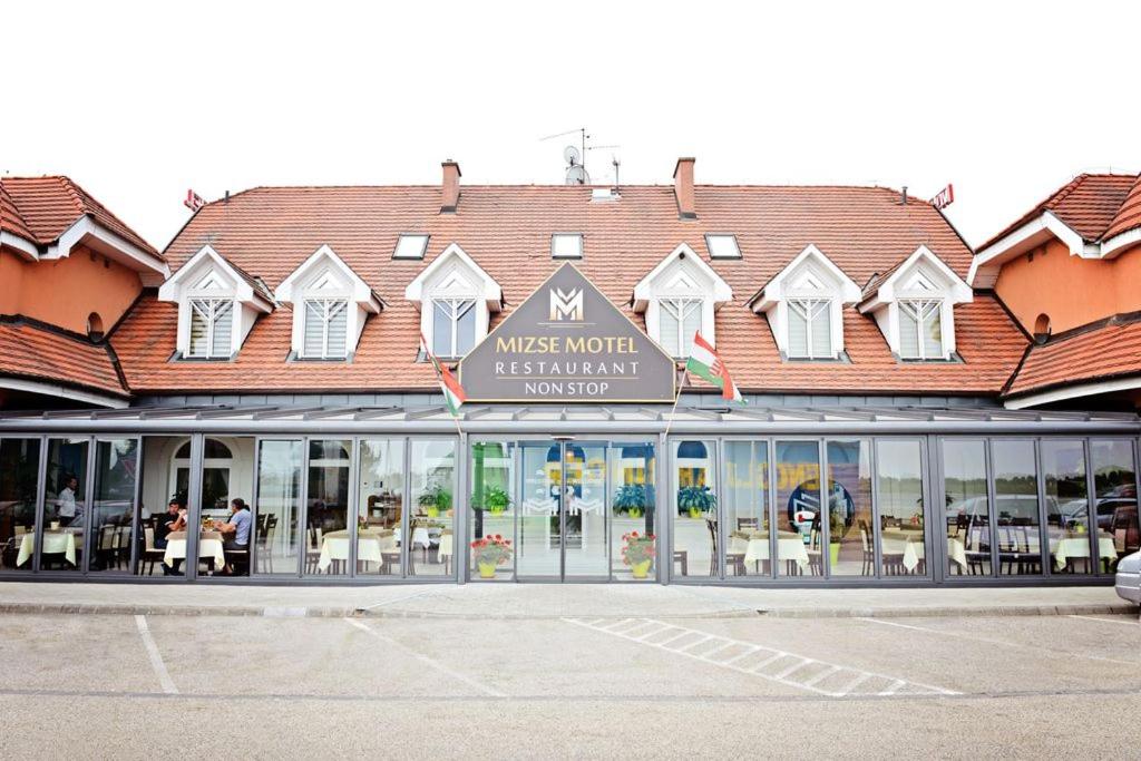
{"label": "white gabled dormer window, second from the left on the roof", "polygon": [[323,245],[282,281],[275,297],[293,305],[291,355],[298,359],[348,359],[369,315],[383,308],[371,288]]}

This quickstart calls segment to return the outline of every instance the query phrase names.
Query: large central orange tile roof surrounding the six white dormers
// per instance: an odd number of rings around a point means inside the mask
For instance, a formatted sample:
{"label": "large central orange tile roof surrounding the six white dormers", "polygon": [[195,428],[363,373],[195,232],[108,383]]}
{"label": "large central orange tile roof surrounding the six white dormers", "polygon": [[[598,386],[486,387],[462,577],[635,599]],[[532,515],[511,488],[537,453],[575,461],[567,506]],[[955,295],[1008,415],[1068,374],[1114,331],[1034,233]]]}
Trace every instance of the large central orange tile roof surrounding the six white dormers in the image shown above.
{"label": "large central orange tile roof surrounding the six white dormers", "polygon": [[[717,315],[718,348],[747,391],[997,394],[1025,351],[1026,338],[1001,305],[980,294],[955,310],[964,364],[900,364],[875,322],[853,309],[844,317],[852,364],[780,362],[768,323],[745,301],[809,243],[857,283],[920,244],[966,275],[971,251],[954,229],[926,203],[901,205],[895,191],[699,185],[695,221],[678,219],[672,186],[624,187],[616,202],[590,196],[589,187],[466,186],[458,212],[440,214],[436,186],[246,191],[197,212],[165,251],[172,268],[210,243],[276,288],[329,244],[388,303],[367,321],[354,361],[286,363],[292,311],[280,307],[258,319],[234,361],[171,363],[177,308],[153,294],[111,340],[141,392],[431,389],[430,366],[414,362],[420,317],[404,299],[408,282],[458,243],[502,285],[507,315],[560,264],[550,257],[551,233],[581,232],[585,254],[576,266],[640,325],[629,302],[646,274],[680,243],[709,261],[734,290]],[[706,232],[735,233],[742,258],[710,260]],[[424,261],[393,259],[400,233],[431,235]]]}

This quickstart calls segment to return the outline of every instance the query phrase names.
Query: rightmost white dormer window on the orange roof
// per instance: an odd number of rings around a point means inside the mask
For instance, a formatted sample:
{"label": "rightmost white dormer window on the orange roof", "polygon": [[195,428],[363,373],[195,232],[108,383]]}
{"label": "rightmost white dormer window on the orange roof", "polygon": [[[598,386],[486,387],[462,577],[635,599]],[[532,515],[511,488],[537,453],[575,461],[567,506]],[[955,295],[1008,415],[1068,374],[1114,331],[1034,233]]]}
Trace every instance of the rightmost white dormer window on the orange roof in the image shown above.
{"label": "rightmost white dormer window on the orange roof", "polygon": [[954,307],[973,298],[971,286],[921,245],[864,289],[859,310],[875,317],[888,346],[900,359],[945,361],[955,353]]}

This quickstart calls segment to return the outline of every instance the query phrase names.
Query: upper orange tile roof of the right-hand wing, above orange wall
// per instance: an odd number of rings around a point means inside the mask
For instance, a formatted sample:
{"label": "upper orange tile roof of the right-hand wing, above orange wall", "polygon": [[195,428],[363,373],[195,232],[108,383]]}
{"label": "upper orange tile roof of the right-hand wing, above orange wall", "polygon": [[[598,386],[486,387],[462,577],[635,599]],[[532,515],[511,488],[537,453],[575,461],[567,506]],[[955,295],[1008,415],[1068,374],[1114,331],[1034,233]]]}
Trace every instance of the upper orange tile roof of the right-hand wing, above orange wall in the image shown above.
{"label": "upper orange tile roof of the right-hand wing, above orange wall", "polygon": [[[1141,176],[1138,175],[1078,175],[980,245],[979,251],[1002,240],[1044,211],[1052,212],[1087,242],[1092,243],[1111,237],[1109,230],[1118,227],[1117,221],[1127,199],[1133,197],[1135,203],[1141,207],[1141,191],[1136,189],[1139,180],[1141,180]],[[1141,224],[1141,208],[1135,209],[1135,211],[1138,218],[1133,219],[1134,226]],[[1117,232],[1124,232],[1124,229]]]}

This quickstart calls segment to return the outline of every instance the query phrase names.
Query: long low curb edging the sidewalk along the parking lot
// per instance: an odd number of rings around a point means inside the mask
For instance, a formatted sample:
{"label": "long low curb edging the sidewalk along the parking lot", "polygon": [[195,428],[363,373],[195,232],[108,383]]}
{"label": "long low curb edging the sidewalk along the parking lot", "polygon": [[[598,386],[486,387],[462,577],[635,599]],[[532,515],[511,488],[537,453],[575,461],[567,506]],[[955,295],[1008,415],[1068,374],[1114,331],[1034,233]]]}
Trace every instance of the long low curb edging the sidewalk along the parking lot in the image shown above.
{"label": "long low curb edging the sidewalk along the parking lot", "polygon": [[136,615],[136,616],[230,616],[264,618],[420,618],[440,621],[535,621],[560,618],[946,618],[946,617],[994,617],[994,616],[1090,616],[1130,615],[1138,616],[1138,606],[1127,602],[1115,605],[1047,605],[1005,607],[887,607],[887,608],[734,608],[705,613],[644,613],[631,616],[607,613],[563,614],[476,614],[434,613],[420,610],[370,610],[355,607],[253,607],[253,606],[186,606],[186,605],[99,605],[86,602],[0,602],[0,614],[23,615]]}

